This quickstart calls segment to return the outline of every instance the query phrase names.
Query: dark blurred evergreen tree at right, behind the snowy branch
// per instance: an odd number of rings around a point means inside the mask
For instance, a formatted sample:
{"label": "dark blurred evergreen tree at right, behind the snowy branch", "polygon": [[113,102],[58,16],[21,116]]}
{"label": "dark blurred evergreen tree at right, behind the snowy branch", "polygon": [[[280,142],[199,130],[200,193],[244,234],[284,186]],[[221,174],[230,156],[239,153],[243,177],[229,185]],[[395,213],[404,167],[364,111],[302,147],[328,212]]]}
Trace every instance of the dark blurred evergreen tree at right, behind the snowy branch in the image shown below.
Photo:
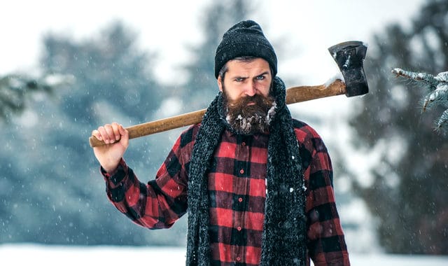
{"label": "dark blurred evergreen tree at right, behind the snowy branch", "polygon": [[448,253],[448,143],[433,132],[443,109],[421,113],[421,84],[391,73],[447,71],[447,23],[448,1],[432,0],[412,27],[391,25],[375,36],[365,64],[371,92],[351,120],[354,144],[380,154],[353,187],[378,217],[379,241],[391,253]]}

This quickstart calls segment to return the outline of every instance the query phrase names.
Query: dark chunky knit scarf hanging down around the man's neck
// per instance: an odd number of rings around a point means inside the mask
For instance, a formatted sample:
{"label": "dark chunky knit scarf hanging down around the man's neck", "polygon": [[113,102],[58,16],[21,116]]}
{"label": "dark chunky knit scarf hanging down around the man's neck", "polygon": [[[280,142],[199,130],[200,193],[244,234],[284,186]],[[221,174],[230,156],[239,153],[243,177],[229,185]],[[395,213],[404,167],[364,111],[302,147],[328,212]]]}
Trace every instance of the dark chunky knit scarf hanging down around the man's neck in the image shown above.
{"label": "dark chunky knit scarf hanging down around the man's neck", "polygon": [[[305,265],[305,188],[299,146],[286,107],[283,81],[272,86],[276,113],[269,125],[267,144],[267,194],[260,265]],[[186,265],[210,264],[208,173],[221,134],[223,119],[220,92],[207,109],[190,160],[188,178],[188,241]]]}

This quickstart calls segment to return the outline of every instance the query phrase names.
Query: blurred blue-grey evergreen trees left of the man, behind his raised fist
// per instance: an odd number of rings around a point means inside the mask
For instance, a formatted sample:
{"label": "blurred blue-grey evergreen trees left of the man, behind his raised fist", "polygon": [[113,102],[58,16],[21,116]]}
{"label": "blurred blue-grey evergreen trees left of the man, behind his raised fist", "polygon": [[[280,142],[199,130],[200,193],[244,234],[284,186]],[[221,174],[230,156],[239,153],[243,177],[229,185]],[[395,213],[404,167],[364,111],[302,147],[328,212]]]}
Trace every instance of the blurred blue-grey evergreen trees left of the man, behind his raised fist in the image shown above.
{"label": "blurred blue-grey evergreen trees left of the man, behind his raised fist", "polygon": [[[36,97],[29,104],[34,112],[25,123],[13,120],[3,129],[0,235],[5,237],[0,242],[181,241],[178,235],[149,234],[117,214],[106,198],[99,165],[87,142],[98,125],[111,120],[140,123],[158,109],[163,88],[151,76],[150,58],[135,48],[135,41],[135,35],[120,23],[87,41],[45,37],[43,73],[73,76],[73,83],[54,90],[50,99]],[[128,162],[135,168],[155,168],[141,158],[157,159],[165,152],[142,141],[141,145],[134,142],[139,148],[127,155]]]}

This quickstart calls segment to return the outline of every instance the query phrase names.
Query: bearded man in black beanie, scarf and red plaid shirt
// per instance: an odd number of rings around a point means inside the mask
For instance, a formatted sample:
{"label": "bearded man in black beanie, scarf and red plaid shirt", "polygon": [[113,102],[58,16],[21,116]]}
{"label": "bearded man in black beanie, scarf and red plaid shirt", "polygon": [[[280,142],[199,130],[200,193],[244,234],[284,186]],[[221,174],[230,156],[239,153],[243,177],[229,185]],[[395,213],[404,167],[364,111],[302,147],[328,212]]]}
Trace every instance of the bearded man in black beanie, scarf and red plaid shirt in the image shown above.
{"label": "bearded man in black beanie, scarf and red plaid shirt", "polygon": [[231,27],[216,50],[220,92],[148,184],[123,160],[121,125],[92,132],[109,144],[94,154],[117,209],[151,229],[188,212],[187,265],[309,265],[309,257],[349,265],[330,157],[318,134],[291,118],[276,72],[260,26]]}

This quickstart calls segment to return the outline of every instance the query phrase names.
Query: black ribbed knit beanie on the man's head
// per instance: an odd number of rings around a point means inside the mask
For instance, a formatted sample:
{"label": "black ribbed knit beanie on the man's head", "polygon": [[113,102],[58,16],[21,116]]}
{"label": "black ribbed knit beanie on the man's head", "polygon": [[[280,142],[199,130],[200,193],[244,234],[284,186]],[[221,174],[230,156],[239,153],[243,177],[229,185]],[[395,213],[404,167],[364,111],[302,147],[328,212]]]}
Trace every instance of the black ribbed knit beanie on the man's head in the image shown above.
{"label": "black ribbed knit beanie on the man's head", "polygon": [[215,77],[229,60],[235,57],[253,56],[265,59],[272,68],[272,76],[277,73],[277,57],[271,43],[256,22],[245,20],[238,22],[223,35],[223,40],[216,48]]}

